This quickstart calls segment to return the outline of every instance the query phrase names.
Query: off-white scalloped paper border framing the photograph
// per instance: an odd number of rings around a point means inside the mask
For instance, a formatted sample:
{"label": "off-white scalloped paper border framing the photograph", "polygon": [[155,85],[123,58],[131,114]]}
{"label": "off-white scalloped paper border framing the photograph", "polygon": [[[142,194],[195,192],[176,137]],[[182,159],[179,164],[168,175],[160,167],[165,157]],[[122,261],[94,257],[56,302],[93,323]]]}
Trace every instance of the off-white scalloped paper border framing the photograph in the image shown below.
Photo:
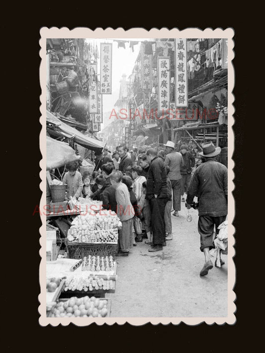
{"label": "off-white scalloped paper border framing the photograph", "polygon": [[201,30],[199,28],[186,28],[184,30],[178,30],[177,28],[152,28],[150,31],[143,28],[131,28],[124,30],[123,28],[96,28],[94,31],[85,28],[77,27],[70,30],[67,27],[42,27],[40,29],[40,85],[41,85],[41,106],[40,106],[40,123],[42,130],[40,133],[40,151],[42,153],[42,159],[40,160],[40,189],[42,196],[40,200],[40,210],[44,209],[46,203],[46,39],[47,38],[227,38],[228,39],[228,305],[227,305],[227,316],[226,317],[107,317],[107,318],[78,318],[78,317],[46,317],[46,216],[41,214],[42,225],[40,227],[40,250],[41,256],[40,268],[39,268],[39,281],[41,292],[38,296],[39,305],[39,324],[41,326],[58,326],[59,324],[67,326],[73,323],[77,326],[88,326],[92,323],[97,325],[123,325],[128,322],[134,326],[140,326],[147,323],[153,325],[163,324],[168,325],[170,323],[178,325],[181,322],[187,325],[198,325],[205,322],[208,325],[218,324],[223,325],[225,323],[233,325],[236,322],[236,294],[234,292],[234,286],[236,282],[236,269],[233,261],[235,256],[235,228],[232,222],[235,217],[235,200],[232,195],[232,191],[235,186],[233,183],[234,179],[234,161],[232,155],[234,152],[234,131],[232,126],[234,124],[233,114],[235,112],[233,102],[234,95],[232,93],[235,83],[235,71],[232,64],[232,60],[235,56],[234,48],[234,30],[232,28],[221,29],[221,28],[206,28]]}

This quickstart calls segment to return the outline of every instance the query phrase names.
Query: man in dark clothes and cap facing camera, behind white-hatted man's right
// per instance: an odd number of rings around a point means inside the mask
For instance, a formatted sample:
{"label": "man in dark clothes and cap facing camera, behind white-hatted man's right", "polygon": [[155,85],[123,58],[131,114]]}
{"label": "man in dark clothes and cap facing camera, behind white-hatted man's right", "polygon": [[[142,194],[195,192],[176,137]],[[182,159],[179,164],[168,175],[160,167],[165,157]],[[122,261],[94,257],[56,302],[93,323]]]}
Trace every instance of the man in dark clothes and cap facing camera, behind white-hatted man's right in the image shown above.
{"label": "man in dark clothes and cap facing camera, behind white-hatted man's right", "polygon": [[191,154],[191,152],[188,151],[188,146],[185,144],[182,144],[180,146],[180,153],[182,154],[183,158],[183,165],[180,167],[180,193],[181,193],[181,201],[185,202],[184,200],[184,192],[187,192],[190,180],[191,180],[191,171],[195,165],[195,158]]}

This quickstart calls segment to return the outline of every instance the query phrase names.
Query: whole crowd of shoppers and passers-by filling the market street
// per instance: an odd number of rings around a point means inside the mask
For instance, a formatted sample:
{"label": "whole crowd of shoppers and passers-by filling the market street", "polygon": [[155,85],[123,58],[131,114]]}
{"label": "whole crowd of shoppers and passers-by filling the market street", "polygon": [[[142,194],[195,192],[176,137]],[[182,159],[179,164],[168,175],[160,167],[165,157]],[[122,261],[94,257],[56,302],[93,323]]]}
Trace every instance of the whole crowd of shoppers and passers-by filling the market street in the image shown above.
{"label": "whole crowd of shoppers and passers-by filling the market street", "polygon": [[96,156],[91,175],[85,172],[82,177],[72,163],[63,182],[68,198],[99,200],[103,209],[117,213],[122,222],[118,256],[128,256],[144,239],[149,252],[163,250],[173,239],[172,215],[179,216],[181,202],[190,209],[197,197],[200,250],[205,255],[200,276],[205,276],[213,267],[209,250],[214,247],[214,225],[217,233],[227,215],[227,168],[215,160],[219,153],[212,142],[202,144],[200,153],[190,143],[175,148],[175,143],[168,141],[159,151],[129,151],[121,144],[113,153],[104,148]]}

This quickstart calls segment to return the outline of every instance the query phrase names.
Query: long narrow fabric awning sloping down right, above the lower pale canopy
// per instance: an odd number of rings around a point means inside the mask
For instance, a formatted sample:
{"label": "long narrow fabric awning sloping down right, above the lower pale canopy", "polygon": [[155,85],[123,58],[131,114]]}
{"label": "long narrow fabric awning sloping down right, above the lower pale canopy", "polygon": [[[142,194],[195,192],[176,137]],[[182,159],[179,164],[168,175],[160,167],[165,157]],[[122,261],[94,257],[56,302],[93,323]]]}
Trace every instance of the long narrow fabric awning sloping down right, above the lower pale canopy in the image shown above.
{"label": "long narrow fabric awning sloping down right, above the lower pale canopy", "polygon": [[51,112],[48,110],[46,111],[46,120],[47,122],[50,122],[52,124],[60,124],[57,125],[58,128],[65,134],[73,137],[74,141],[80,144],[81,146],[84,146],[88,149],[91,149],[96,152],[101,152],[102,148],[104,147],[104,143],[101,141],[97,141],[95,139],[92,139],[84,134],[82,134],[80,131],[77,129],[65,124],[62,122],[60,119],[58,119],[56,116],[54,116]]}

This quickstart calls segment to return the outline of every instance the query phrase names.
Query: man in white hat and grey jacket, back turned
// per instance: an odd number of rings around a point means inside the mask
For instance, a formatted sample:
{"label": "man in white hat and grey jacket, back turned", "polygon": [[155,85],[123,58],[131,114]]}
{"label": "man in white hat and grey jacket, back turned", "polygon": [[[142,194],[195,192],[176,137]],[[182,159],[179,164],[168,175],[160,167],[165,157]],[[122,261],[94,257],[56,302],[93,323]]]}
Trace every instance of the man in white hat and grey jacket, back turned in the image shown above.
{"label": "man in white hat and grey jacket, back turned", "polygon": [[172,190],[173,190],[173,215],[178,216],[178,211],[180,211],[180,168],[183,166],[183,158],[181,153],[175,151],[175,143],[168,141],[166,146],[166,152],[168,153],[165,158],[165,165],[170,168],[168,177],[170,179]]}

